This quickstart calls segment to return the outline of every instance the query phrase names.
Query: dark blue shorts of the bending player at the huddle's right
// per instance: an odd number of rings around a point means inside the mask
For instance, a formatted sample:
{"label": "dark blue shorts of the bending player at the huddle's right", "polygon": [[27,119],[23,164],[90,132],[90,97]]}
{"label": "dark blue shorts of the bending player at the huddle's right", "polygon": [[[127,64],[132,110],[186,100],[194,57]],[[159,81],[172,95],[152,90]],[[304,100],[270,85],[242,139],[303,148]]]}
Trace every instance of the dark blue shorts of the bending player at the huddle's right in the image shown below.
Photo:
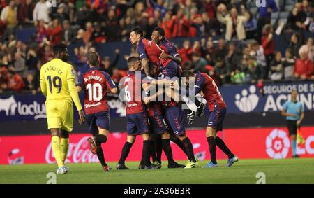
{"label": "dark blue shorts of the bending player at the huddle's right", "polygon": [[217,129],[217,131],[223,130],[223,120],[225,120],[225,114],[227,113],[226,108],[215,108],[214,111],[211,111],[209,114],[209,119],[207,122],[207,127]]}

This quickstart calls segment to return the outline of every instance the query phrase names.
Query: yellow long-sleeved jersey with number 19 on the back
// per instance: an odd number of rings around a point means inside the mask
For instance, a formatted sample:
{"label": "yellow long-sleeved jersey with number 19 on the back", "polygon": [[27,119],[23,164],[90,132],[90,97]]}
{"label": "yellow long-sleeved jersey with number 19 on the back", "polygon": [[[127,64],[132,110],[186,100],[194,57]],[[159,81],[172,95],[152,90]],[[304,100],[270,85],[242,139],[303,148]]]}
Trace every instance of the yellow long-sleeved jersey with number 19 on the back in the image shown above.
{"label": "yellow long-sleeved jersey with number 19 on the back", "polygon": [[54,58],[40,69],[40,88],[46,96],[46,103],[50,100],[67,101],[78,111],[82,109],[78,93],[75,89],[75,71],[73,66]]}

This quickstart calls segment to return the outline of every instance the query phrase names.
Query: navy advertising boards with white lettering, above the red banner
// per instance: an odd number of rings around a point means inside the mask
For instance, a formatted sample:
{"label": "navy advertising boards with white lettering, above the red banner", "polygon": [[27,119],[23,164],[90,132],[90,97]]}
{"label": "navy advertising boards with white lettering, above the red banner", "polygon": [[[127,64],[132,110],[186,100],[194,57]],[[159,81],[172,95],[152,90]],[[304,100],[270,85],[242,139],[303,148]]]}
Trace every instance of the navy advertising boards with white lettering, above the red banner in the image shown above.
{"label": "navy advertising boards with white lettering, above the red banner", "polygon": [[[227,104],[227,113],[271,113],[281,111],[283,103],[291,99],[290,93],[294,89],[299,92],[298,99],[304,104],[305,111],[313,111],[313,80],[265,83],[263,96],[256,85],[225,85],[220,87],[220,92]],[[84,100],[84,94],[80,94],[80,100]],[[125,117],[126,107],[119,97],[110,95],[107,100],[112,119]],[[0,118],[1,121],[45,119],[45,97],[42,94],[1,95]],[[76,111],[75,118],[78,118]]]}

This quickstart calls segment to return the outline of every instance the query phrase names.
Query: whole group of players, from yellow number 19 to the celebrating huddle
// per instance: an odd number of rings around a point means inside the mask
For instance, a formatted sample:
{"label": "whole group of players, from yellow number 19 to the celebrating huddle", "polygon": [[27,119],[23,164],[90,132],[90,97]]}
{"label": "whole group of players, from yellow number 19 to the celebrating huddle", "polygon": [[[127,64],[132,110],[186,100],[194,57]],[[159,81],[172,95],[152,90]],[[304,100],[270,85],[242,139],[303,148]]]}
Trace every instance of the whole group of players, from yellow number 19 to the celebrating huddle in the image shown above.
{"label": "whole group of players, from yellow number 19 to the celebrating huddle", "polygon": [[[124,96],[121,99],[126,102],[127,139],[117,169],[128,169],[125,161],[138,135],[143,139],[139,169],[159,169],[162,150],[167,157],[168,168],[200,167],[193,144],[186,135],[182,104],[188,106],[188,125],[192,124],[196,115],[202,116],[206,105],[209,108],[206,136],[211,161],[204,168],[217,167],[216,146],[227,155],[227,167],[237,162],[238,157],[216,135],[223,129],[226,105],[214,80],[200,71],[181,71],[179,53],[165,38],[162,28],[154,29],[151,40],[143,38],[142,31],[135,28],[130,31],[130,42],[137,45],[140,57],[128,58],[128,76],[119,84],[120,96]],[[87,139],[91,153],[98,156],[104,171],[110,171],[101,144],[107,141],[110,127],[107,92],[117,94],[118,87],[107,73],[99,69],[100,56],[97,52],[89,52],[90,68],[77,80],[76,87],[73,67],[66,63],[66,46],[54,46],[54,57],[40,71],[40,87],[47,97],[47,123],[58,164],[57,174],[68,172],[64,162],[68,151],[68,133],[73,129],[72,100],[80,115],[79,123],[86,120],[92,134]],[[86,117],[77,94],[81,90],[84,91]],[[170,141],[186,153],[187,164],[174,161]]]}

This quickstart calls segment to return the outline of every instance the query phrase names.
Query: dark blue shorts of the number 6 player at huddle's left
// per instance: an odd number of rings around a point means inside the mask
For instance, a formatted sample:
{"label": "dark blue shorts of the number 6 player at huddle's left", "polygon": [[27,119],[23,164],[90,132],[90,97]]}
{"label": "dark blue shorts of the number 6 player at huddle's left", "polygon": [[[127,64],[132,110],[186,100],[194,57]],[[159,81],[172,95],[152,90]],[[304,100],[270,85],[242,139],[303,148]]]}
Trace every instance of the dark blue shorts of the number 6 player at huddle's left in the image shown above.
{"label": "dark blue shorts of the number 6 player at huddle's left", "polygon": [[129,136],[142,135],[149,132],[149,125],[145,112],[127,114],[126,119],[126,131]]}

